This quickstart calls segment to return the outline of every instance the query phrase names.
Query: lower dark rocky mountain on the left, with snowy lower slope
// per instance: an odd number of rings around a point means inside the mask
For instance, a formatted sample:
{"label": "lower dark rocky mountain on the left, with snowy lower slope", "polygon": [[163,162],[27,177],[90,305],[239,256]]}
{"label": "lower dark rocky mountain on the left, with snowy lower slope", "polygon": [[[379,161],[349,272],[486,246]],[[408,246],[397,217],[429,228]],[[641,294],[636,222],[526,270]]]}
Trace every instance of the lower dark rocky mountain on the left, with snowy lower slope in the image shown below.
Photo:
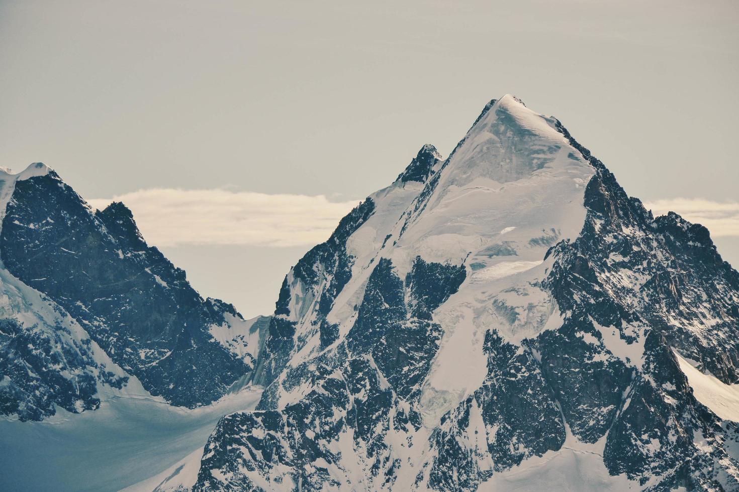
{"label": "lower dark rocky mountain on the left, with snowy lower slope", "polygon": [[267,322],[203,299],[121,203],[50,168],[0,173],[0,413],[96,409],[115,390],[195,407],[250,376]]}

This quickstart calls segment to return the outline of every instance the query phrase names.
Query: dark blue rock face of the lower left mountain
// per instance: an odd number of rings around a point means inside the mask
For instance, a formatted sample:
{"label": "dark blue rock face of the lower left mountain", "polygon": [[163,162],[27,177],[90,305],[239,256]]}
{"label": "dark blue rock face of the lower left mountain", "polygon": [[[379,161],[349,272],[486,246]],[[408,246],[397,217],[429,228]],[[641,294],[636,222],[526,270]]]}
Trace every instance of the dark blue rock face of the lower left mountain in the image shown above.
{"label": "dark blue rock face of the lower left mountain", "polygon": [[10,273],[66,310],[153,395],[180,406],[222,396],[253,367],[209,333],[233,306],[202,299],[185,272],[141,237],[123,204],[93,212],[50,171],[18,181],[0,257]]}

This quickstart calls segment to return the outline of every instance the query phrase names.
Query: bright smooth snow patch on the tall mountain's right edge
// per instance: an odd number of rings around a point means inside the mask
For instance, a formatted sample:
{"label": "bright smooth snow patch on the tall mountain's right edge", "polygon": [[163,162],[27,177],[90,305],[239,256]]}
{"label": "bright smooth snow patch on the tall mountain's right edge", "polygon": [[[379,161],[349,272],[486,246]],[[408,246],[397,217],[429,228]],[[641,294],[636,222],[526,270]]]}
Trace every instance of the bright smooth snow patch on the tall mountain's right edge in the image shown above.
{"label": "bright smooth snow patch on the tall mountain's right edge", "polygon": [[688,378],[695,398],[723,420],[739,422],[739,384],[726,384],[711,373],[701,373],[675,350],[672,352]]}

